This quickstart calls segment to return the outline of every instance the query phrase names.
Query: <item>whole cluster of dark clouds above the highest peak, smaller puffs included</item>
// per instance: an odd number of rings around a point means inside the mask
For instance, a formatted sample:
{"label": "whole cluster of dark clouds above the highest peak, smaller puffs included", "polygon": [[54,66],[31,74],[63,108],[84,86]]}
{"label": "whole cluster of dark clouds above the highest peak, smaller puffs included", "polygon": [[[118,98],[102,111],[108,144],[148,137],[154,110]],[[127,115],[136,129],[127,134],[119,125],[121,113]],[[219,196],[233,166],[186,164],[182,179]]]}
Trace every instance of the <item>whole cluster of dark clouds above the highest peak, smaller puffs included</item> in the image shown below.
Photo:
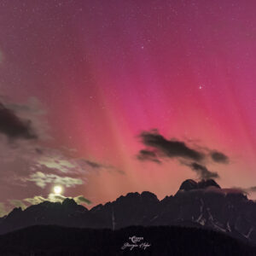
{"label": "whole cluster of dark clouds above the highest peak, smaller puffs included", "polygon": [[177,158],[182,165],[189,166],[203,179],[218,178],[217,172],[211,172],[207,169],[207,166],[205,166],[207,162],[229,163],[228,156],[217,150],[202,147],[200,149],[199,147],[191,148],[182,141],[166,139],[156,129],[143,131],[139,138],[147,148],[139,151],[137,154],[138,160],[161,163],[164,158]]}

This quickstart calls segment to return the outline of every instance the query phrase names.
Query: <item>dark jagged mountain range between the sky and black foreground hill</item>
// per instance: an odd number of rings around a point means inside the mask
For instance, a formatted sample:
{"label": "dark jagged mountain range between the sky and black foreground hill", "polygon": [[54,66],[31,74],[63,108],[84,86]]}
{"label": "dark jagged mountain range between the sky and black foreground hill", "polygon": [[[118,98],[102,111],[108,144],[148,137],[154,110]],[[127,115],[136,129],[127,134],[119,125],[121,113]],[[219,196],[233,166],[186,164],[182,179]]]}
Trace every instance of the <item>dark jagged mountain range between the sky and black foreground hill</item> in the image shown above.
{"label": "dark jagged mountain range between the sky and black foreground hill", "polygon": [[0,218],[0,233],[32,225],[119,230],[128,226],[187,226],[217,230],[256,244],[256,202],[237,189],[221,189],[212,179],[184,181],[175,195],[128,193],[88,210],[73,199],[15,208]]}

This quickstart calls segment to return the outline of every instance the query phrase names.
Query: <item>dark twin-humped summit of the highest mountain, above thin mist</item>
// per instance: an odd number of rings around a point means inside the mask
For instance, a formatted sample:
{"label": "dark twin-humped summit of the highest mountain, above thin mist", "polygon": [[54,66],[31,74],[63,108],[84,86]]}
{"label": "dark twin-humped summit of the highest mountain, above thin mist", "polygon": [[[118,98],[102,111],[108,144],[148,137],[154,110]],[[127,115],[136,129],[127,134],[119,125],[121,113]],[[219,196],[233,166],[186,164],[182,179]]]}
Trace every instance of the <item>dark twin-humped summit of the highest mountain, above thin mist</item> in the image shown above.
{"label": "dark twin-humped summit of the highest mountain, above thin mist", "polygon": [[187,179],[181,184],[179,190],[189,191],[193,189],[207,189],[208,187],[216,187],[220,189],[220,186],[218,185],[218,183],[216,183],[215,180],[210,178],[210,179],[202,179],[198,183],[195,182],[195,180],[193,179]]}

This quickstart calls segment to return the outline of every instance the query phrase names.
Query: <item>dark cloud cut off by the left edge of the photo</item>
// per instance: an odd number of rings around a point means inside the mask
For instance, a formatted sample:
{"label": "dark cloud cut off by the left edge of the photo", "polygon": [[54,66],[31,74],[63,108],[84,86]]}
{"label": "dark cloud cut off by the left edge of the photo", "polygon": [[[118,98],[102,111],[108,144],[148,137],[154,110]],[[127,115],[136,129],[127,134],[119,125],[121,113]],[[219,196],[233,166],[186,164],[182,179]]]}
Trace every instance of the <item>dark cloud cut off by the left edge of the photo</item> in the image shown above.
{"label": "dark cloud cut off by the left edge of the photo", "polygon": [[13,110],[5,108],[0,102],[0,132],[9,139],[35,139],[37,135],[32,130],[30,120],[20,119]]}

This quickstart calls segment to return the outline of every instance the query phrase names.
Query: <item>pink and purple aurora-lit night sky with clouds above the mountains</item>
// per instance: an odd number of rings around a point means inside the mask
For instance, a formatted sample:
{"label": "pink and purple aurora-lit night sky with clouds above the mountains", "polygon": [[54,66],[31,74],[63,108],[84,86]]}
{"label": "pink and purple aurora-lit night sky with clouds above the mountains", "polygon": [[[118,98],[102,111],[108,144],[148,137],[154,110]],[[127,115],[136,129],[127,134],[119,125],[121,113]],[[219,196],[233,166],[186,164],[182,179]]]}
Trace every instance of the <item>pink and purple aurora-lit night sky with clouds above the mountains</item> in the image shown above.
{"label": "pink and purple aurora-lit night sky with clouds above the mountains", "polygon": [[1,211],[143,190],[161,199],[187,178],[254,187],[255,9],[0,0]]}

